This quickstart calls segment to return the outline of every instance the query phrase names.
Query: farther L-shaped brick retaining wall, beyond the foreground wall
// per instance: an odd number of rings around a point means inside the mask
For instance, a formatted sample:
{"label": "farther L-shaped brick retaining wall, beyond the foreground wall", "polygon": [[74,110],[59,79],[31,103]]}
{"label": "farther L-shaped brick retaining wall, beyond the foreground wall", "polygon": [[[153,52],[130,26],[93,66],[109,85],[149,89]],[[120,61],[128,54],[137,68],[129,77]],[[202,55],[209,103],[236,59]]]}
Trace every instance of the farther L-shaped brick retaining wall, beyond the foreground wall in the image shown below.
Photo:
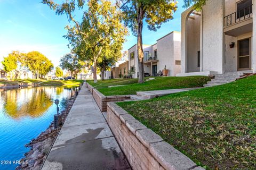
{"label": "farther L-shaped brick retaining wall, beyond the foreground wall", "polygon": [[93,98],[95,99],[97,105],[100,108],[101,112],[107,111],[107,103],[113,101],[124,101],[130,99],[130,95],[121,95],[121,96],[105,96],[101,94],[97,89],[92,87],[89,83],[86,82],[87,88],[91,91]]}

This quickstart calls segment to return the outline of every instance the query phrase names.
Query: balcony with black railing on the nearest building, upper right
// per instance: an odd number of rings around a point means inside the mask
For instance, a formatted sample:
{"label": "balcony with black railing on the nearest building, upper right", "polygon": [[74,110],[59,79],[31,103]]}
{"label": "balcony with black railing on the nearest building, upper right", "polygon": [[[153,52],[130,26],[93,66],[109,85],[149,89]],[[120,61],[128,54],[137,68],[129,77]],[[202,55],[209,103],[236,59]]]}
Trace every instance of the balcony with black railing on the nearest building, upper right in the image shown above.
{"label": "balcony with black railing on the nearest building, upper right", "polygon": [[238,36],[252,31],[252,5],[224,17],[223,32],[229,36]]}

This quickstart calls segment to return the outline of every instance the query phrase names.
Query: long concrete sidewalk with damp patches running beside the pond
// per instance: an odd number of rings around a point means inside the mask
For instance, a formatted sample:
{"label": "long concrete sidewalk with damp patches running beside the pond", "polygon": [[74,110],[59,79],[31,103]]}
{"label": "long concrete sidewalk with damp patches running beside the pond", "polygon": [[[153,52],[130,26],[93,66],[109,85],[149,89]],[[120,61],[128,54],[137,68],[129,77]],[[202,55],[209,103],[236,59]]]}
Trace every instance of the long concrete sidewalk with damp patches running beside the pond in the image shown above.
{"label": "long concrete sidewalk with damp patches running beside the pond", "polygon": [[85,85],[42,169],[131,169]]}

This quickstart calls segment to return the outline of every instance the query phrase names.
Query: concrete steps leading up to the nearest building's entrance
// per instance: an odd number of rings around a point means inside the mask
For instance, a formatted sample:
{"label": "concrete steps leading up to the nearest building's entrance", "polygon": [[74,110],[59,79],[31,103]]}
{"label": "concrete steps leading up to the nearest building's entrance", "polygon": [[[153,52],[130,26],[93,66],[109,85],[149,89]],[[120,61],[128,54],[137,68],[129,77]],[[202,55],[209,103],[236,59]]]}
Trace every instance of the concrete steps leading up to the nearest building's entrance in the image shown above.
{"label": "concrete steps leading up to the nearest building's entrance", "polygon": [[237,71],[237,72],[227,72],[223,74],[215,74],[215,78],[204,84],[204,87],[218,86],[221,84],[226,84],[235,81],[237,78],[242,77],[246,73],[252,73],[251,71]]}

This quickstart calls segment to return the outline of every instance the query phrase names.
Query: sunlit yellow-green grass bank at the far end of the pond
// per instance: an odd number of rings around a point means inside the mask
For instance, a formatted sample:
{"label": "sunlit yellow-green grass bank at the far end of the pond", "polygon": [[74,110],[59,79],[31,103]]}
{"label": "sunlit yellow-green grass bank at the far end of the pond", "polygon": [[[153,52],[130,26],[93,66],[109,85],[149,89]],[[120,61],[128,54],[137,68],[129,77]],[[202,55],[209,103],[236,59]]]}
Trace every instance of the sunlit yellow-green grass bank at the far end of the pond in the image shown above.
{"label": "sunlit yellow-green grass bank at the far end of the pond", "polygon": [[83,80],[46,80],[40,84],[40,86],[65,86],[73,87],[79,86]]}

